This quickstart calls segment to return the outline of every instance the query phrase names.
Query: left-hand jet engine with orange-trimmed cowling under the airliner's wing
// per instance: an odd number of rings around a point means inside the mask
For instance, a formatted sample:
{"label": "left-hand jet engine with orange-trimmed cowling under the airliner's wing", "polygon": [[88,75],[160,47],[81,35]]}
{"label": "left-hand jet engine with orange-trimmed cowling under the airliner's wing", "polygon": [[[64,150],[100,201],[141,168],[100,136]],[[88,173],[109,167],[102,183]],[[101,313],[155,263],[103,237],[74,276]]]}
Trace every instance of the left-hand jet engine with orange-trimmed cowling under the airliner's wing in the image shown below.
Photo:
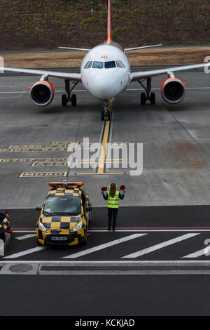
{"label": "left-hand jet engine with orange-trimmed cowling under the airliner's wing", "polygon": [[55,94],[55,86],[50,81],[36,81],[36,83],[29,87],[31,88],[29,95],[35,105],[45,107],[45,105],[49,105],[52,102]]}

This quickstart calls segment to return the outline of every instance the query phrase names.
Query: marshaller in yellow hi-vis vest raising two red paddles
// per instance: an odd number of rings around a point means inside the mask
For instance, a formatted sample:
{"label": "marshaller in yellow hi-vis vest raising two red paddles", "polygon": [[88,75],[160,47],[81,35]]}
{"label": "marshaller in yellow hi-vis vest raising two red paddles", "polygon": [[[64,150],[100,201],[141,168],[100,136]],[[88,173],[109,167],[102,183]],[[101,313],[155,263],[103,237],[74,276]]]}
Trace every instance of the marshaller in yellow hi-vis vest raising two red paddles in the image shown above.
{"label": "marshaller in yellow hi-vis vest raising two red paddles", "polygon": [[125,196],[125,190],[123,190],[123,194],[117,191],[117,186],[115,183],[111,183],[109,186],[109,192],[104,194],[102,191],[103,197],[107,200],[107,209],[108,209],[108,230],[111,230],[111,223],[113,232],[116,230],[116,222],[118,216],[118,208],[119,208],[119,199],[123,199]]}

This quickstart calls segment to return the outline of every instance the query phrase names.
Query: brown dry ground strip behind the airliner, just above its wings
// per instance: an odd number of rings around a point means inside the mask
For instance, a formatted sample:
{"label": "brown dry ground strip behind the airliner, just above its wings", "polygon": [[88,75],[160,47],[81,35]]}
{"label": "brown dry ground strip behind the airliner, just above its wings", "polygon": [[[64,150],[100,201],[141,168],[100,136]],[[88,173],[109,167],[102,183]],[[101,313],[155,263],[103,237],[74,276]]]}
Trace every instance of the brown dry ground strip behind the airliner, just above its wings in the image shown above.
{"label": "brown dry ground strip behind the airliner, just above its wings", "polygon": [[[209,55],[210,46],[151,48],[127,53],[132,66],[197,64],[204,62]],[[80,67],[84,56],[85,52],[62,51],[3,54],[3,59],[5,67]]]}

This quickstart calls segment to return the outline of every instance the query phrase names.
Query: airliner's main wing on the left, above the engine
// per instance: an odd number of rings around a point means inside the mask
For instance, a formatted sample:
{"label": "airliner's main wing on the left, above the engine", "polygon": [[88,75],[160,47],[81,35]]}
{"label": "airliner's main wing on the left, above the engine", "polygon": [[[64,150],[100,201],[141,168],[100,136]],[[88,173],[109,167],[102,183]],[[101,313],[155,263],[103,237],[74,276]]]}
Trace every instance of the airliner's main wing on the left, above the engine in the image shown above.
{"label": "airliner's main wing on the left, above the engine", "polygon": [[81,81],[80,73],[71,73],[71,72],[57,72],[57,71],[47,71],[47,70],[34,70],[34,69],[18,69],[15,67],[0,67],[0,72],[19,72],[20,74],[41,74],[42,76],[55,77],[62,79],[69,79],[73,81]]}

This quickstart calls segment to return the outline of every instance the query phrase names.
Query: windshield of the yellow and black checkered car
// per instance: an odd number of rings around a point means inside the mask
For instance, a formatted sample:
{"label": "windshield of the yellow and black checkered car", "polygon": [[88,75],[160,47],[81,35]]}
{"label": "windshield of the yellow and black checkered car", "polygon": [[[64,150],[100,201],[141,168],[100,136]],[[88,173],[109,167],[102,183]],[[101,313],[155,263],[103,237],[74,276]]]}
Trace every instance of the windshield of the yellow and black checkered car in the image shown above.
{"label": "windshield of the yellow and black checkered car", "polygon": [[50,196],[45,202],[43,212],[78,215],[80,213],[80,198],[77,196]]}

